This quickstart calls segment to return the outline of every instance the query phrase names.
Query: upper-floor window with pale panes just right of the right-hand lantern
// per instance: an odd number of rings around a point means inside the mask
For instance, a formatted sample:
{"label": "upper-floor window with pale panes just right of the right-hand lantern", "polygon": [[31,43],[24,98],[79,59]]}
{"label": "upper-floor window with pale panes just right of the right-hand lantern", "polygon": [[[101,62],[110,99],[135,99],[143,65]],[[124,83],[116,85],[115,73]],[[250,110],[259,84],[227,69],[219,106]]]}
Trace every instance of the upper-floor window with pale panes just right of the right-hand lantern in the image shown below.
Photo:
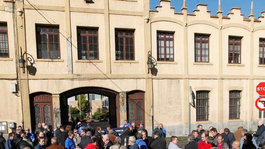
{"label": "upper-floor window with pale panes just right of the right-hand lantern", "polygon": [[174,33],[157,32],[157,61],[174,61]]}

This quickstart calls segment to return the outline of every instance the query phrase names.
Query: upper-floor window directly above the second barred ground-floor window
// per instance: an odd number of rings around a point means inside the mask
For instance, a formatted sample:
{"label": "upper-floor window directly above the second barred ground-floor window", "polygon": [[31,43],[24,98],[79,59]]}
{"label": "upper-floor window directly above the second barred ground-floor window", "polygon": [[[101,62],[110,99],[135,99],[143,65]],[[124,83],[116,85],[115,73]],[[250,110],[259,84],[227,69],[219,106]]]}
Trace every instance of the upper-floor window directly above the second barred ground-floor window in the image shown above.
{"label": "upper-floor window directly above the second barred ground-floor window", "polygon": [[241,64],[241,38],[229,36],[229,63]]}

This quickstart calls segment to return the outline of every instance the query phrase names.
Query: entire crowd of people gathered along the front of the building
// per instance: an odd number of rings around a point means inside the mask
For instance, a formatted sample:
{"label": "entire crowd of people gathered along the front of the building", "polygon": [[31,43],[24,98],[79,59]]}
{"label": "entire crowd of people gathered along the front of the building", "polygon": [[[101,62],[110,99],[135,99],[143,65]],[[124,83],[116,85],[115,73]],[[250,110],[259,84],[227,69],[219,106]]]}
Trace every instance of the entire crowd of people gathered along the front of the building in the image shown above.
{"label": "entire crowd of people gathered along the front of the building", "polygon": [[[243,127],[232,133],[228,128],[218,132],[213,126],[207,130],[198,125],[188,135],[184,149],[265,149],[265,126],[261,120],[257,125],[257,132],[252,134]],[[151,136],[143,123],[138,128],[125,120],[123,127],[124,132],[119,135],[111,125],[102,134],[101,127],[94,128],[91,123],[83,126],[81,122],[73,129],[71,125],[58,124],[55,131],[51,125],[38,123],[34,133],[18,126],[7,140],[0,132],[0,149],[166,149],[163,124],[155,124]],[[180,149],[177,144],[178,138],[171,136],[168,149]]]}

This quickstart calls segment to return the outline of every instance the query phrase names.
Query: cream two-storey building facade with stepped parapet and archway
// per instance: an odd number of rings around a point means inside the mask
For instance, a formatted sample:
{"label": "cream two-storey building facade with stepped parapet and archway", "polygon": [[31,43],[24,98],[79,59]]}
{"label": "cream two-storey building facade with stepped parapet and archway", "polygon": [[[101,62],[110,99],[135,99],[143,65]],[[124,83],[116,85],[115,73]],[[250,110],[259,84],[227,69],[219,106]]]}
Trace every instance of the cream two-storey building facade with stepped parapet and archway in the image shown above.
{"label": "cream two-storey building facade with stepped parapet and archway", "polygon": [[187,13],[185,0],[180,12],[170,0],[156,10],[149,0],[0,0],[0,121],[56,127],[67,123],[67,98],[98,94],[112,126],[163,123],[167,136],[182,136],[192,86],[192,129],[255,130],[265,12],[255,19],[250,8],[244,18],[240,8],[223,16],[220,1],[210,15],[205,4]]}

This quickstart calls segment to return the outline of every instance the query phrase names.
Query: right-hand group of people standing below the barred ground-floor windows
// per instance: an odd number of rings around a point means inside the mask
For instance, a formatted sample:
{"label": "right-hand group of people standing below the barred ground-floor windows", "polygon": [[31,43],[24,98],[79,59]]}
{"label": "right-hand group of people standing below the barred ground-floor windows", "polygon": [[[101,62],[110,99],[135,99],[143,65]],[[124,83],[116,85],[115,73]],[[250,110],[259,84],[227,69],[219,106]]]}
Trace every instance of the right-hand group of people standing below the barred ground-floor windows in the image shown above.
{"label": "right-hand group of people standing below the barred ground-floor windows", "polygon": [[[188,144],[184,149],[265,149],[265,126],[261,120],[258,120],[257,125],[257,132],[252,134],[242,126],[232,133],[228,128],[219,129],[218,132],[213,126],[204,130],[202,125],[198,125],[197,130],[188,135]],[[170,145],[175,144],[175,148],[168,149],[179,149],[177,138],[173,138]]]}

